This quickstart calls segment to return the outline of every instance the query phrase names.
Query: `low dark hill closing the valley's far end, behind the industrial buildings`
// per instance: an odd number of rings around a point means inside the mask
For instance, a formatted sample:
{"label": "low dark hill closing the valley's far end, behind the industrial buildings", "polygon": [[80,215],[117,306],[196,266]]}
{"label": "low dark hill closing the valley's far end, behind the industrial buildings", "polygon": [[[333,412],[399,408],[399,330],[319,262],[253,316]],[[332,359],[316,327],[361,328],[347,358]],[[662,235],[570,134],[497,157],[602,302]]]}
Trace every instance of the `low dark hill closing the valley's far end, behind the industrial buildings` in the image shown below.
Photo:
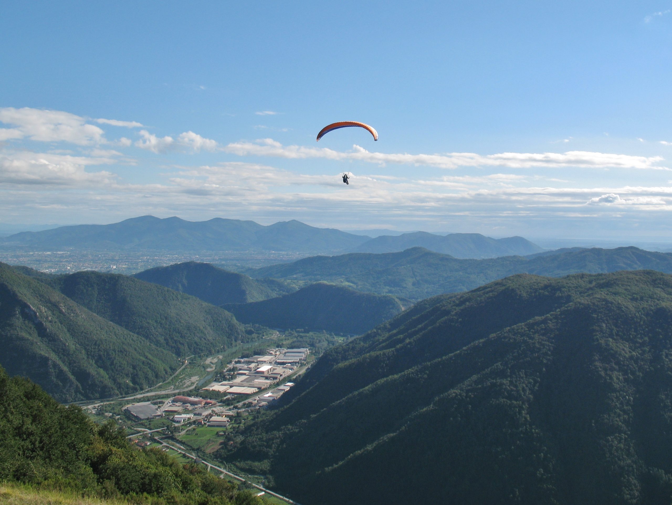
{"label": "low dark hill closing the valley's far end, behind the industrial buildings", "polygon": [[364,333],[403,310],[393,296],[360,293],[327,283],[312,284],[263,302],[228,304],[224,308],[245,323],[354,334]]}

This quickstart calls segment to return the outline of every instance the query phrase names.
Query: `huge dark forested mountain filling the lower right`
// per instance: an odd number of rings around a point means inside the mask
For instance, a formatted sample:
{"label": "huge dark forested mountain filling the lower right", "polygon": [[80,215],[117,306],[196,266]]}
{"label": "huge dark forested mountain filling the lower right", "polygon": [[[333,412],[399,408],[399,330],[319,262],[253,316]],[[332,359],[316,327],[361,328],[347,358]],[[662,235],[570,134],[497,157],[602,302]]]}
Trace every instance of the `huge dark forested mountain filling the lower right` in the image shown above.
{"label": "huge dark forested mountain filling the lower right", "polygon": [[327,351],[220,454],[312,504],[669,503],[671,356],[672,276],[515,275]]}

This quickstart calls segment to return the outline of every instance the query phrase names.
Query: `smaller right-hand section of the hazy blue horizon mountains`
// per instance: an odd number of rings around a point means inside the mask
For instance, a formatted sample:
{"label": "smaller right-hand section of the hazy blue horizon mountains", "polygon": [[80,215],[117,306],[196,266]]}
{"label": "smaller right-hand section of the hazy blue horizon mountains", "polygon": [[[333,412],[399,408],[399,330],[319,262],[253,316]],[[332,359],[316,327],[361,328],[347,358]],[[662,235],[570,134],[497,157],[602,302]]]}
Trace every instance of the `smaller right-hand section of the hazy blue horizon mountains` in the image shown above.
{"label": "smaller right-hand section of the hazy blue horizon mountains", "polygon": [[424,247],[456,258],[497,258],[526,256],[543,249],[523,237],[491,238],[480,233],[451,233],[441,236],[427,232],[398,236],[378,236],[360,245],[356,252],[396,252],[411,247]]}

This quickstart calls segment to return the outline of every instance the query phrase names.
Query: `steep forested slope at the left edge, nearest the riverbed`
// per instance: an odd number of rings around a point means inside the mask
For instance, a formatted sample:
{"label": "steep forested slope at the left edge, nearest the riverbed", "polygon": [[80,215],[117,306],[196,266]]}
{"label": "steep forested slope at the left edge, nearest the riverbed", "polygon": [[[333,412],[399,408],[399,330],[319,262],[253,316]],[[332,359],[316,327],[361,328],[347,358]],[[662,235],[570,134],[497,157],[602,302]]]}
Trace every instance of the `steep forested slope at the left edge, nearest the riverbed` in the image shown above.
{"label": "steep forested slope at the left edge, nearest the riverbed", "polygon": [[73,402],[144,389],[177,369],[165,349],[0,263],[0,365]]}

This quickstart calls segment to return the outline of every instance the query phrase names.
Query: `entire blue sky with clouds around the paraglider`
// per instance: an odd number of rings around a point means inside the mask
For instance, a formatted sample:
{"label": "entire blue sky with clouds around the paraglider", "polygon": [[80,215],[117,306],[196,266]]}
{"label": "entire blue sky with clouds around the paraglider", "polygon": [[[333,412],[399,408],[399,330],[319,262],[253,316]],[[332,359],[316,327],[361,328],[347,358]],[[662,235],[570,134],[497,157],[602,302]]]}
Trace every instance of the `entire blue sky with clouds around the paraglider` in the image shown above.
{"label": "entire blue sky with clouds around the paraglider", "polygon": [[672,2],[510,4],[3,5],[0,223],[672,240]]}

